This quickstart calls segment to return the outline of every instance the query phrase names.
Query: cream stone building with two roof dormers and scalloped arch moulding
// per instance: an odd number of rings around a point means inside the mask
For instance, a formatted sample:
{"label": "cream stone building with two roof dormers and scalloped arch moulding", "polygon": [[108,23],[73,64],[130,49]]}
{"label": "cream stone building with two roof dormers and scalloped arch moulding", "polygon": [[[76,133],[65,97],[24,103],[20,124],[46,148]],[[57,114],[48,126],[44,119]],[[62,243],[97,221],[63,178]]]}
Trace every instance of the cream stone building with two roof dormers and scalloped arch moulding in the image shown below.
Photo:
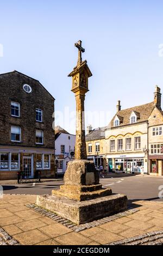
{"label": "cream stone building with two roof dormers and scalloped arch moulding", "polygon": [[109,168],[115,172],[147,172],[147,121],[154,103],[121,110],[105,131],[106,159]]}

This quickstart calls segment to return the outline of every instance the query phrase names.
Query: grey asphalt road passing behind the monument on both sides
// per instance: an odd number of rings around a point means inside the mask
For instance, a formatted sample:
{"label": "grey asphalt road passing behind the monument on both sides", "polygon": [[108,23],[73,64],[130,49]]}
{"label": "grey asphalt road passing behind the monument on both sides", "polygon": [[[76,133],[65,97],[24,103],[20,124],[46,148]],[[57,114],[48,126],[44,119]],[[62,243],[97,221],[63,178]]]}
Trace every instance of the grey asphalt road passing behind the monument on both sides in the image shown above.
{"label": "grey asphalt road passing behind the monument on both sides", "polygon": [[[113,193],[127,194],[130,200],[156,200],[159,198],[159,187],[162,185],[163,197],[163,178],[152,177],[149,175],[126,176],[124,174],[110,174],[107,178],[100,179],[103,187],[111,187]],[[12,184],[3,185],[3,192],[6,194],[51,194],[52,189],[59,189],[64,182],[48,181],[40,184]]]}

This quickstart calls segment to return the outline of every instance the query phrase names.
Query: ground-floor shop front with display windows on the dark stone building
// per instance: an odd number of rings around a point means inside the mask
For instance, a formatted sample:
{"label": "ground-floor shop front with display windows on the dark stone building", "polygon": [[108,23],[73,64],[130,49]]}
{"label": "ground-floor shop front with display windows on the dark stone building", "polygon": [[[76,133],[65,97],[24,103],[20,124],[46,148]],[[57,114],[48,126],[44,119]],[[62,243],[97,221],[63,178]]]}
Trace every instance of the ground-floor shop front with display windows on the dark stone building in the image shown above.
{"label": "ground-floor shop front with display windows on the dark stone building", "polygon": [[0,148],[0,180],[54,177],[54,151],[46,149]]}

